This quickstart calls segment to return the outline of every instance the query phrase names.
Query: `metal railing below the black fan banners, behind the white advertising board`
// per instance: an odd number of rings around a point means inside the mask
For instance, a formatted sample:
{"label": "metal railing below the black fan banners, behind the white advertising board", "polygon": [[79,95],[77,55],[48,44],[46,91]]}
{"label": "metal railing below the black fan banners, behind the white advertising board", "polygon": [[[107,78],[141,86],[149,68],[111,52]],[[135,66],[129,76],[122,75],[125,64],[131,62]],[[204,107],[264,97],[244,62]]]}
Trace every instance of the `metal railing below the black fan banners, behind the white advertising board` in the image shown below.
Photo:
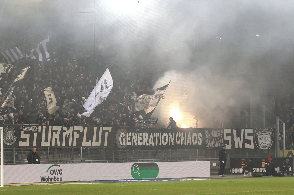
{"label": "metal railing below the black fan banners, behind the white advertising board", "polygon": [[[167,161],[217,161],[220,149],[166,149],[124,150],[114,148],[39,148],[40,162],[51,163],[112,163],[112,162],[167,162]],[[27,164],[30,148],[7,148],[5,164]],[[274,156],[275,149],[230,149],[229,158],[267,158]]]}

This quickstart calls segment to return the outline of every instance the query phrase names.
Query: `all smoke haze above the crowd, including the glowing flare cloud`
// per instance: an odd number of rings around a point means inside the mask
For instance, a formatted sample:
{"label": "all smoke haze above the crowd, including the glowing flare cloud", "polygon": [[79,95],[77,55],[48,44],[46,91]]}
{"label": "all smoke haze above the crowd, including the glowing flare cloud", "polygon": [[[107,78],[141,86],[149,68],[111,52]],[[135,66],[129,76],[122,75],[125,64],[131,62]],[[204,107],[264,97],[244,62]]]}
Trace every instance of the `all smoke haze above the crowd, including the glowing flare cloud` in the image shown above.
{"label": "all smoke haze above the crowd, including the glowing flare cloud", "polygon": [[171,80],[153,113],[160,123],[176,109],[181,127],[221,127],[251,97],[293,93],[293,10],[293,1],[1,0],[0,44],[27,33],[32,47],[49,35],[96,55],[102,45],[117,66],[153,72],[154,88]]}

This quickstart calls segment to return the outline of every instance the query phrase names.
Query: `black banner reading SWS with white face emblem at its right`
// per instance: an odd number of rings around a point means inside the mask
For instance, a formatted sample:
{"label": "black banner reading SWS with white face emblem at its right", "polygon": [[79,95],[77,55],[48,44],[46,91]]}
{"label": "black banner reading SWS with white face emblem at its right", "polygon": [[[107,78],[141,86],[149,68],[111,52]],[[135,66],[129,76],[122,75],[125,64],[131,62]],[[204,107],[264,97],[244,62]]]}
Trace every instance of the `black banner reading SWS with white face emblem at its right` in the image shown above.
{"label": "black banner reading SWS with white face emblem at its right", "polygon": [[270,149],[274,143],[272,128],[222,129],[205,128],[205,148],[219,148],[221,143],[227,149]]}

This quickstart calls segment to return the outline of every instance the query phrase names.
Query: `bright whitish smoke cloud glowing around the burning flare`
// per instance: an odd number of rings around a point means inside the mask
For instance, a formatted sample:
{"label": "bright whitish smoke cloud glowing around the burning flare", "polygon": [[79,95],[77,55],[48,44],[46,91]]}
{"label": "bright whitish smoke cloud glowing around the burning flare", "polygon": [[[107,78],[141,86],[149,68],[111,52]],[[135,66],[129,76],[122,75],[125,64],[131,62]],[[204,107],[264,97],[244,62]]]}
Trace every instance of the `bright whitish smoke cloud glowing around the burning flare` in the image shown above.
{"label": "bright whitish smoke cloud glowing around the burning flare", "polygon": [[198,128],[221,127],[222,123],[228,123],[231,108],[251,95],[244,79],[212,75],[207,66],[190,73],[168,71],[158,79],[155,88],[166,85],[170,80],[164,93],[166,99],[159,102],[153,113],[159,124],[167,123],[172,116],[179,127],[195,127],[195,119],[199,120]]}

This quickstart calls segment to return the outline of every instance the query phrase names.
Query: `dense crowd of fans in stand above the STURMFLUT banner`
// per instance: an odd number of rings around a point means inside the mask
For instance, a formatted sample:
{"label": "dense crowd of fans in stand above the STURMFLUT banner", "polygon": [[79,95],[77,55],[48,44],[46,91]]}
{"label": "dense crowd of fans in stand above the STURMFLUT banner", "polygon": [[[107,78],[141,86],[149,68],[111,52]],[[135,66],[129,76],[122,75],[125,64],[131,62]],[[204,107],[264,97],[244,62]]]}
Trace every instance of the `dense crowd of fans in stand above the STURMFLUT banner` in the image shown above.
{"label": "dense crowd of fans in stand above the STURMFLUT banner", "polygon": [[[152,76],[144,73],[142,68],[115,63],[106,55],[98,55],[98,60],[94,62],[90,55],[85,57],[85,50],[76,53],[73,50],[73,45],[69,44],[66,55],[54,52],[50,60],[45,62],[23,59],[23,67],[30,65],[31,70],[25,79],[14,83],[16,110],[11,107],[2,108],[0,115],[7,113],[8,119],[2,120],[1,124],[142,125],[138,124],[142,116],[135,112],[134,100],[129,101],[127,97],[133,95],[133,92],[143,94],[152,91]],[[2,77],[1,100],[19,74],[21,68],[18,66]],[[85,117],[82,115],[85,111],[83,104],[96,84],[93,75],[101,76],[107,67],[114,81],[112,91],[90,117]],[[55,97],[59,97],[57,106],[60,108],[52,115],[48,114],[43,91],[47,87],[55,88]]]}

